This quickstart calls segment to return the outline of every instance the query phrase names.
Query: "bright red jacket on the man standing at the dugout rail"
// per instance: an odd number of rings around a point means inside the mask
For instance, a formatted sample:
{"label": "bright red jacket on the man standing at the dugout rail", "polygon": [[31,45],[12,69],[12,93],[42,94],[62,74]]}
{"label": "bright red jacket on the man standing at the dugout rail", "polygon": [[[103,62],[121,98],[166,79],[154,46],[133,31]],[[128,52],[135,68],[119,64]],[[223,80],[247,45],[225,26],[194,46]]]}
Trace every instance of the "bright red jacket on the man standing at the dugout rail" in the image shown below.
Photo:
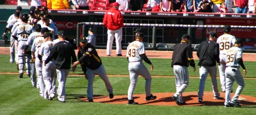
{"label": "bright red jacket on the man standing at the dugout rail", "polygon": [[110,8],[104,15],[103,24],[112,31],[123,27],[123,16],[121,12],[117,8]]}

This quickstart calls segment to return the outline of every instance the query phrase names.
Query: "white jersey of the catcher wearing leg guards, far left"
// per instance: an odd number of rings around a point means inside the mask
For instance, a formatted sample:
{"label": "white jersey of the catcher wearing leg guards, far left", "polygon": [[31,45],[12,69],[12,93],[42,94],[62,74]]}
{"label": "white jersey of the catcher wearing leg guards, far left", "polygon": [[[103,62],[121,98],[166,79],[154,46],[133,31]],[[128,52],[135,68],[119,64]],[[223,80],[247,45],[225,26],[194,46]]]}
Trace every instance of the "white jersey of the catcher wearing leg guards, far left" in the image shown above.
{"label": "white jersey of the catcher wearing leg guards, far left", "polygon": [[27,41],[28,36],[30,33],[35,32],[35,29],[30,24],[20,24],[18,27],[16,27],[13,31],[13,36],[18,37],[18,41]]}

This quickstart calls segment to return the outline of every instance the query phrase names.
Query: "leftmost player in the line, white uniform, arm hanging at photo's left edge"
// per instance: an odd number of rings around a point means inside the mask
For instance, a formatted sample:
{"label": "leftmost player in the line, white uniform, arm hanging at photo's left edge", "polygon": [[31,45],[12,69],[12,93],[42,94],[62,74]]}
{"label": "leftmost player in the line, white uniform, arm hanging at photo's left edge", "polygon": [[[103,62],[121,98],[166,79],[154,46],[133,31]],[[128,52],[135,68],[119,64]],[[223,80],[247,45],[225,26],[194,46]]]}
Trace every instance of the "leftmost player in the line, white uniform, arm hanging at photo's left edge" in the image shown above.
{"label": "leftmost player in the line, white uniform, arm hanging at photo's left edge", "polygon": [[[16,11],[14,13],[14,18],[9,20],[9,23],[6,25],[5,27],[5,31],[3,32],[3,36],[6,36],[6,32],[9,30],[9,32],[11,32],[11,28],[13,28],[13,25],[18,22],[18,19],[19,19],[19,15],[20,15],[20,12],[19,11]],[[15,59],[15,40],[14,38],[11,36],[10,37],[10,63],[13,63],[14,62],[14,59]]]}

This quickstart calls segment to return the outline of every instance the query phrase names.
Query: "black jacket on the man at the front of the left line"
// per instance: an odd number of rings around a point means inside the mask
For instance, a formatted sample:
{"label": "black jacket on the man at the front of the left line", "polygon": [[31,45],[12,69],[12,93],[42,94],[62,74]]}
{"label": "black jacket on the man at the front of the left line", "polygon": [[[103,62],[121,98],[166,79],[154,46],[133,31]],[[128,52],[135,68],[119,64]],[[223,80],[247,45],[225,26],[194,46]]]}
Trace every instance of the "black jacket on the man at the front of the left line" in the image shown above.
{"label": "black jacket on the man at the front of the left line", "polygon": [[48,63],[52,59],[55,60],[56,69],[70,69],[71,68],[71,57],[72,62],[76,62],[76,53],[71,44],[66,41],[57,42],[46,59],[45,63]]}

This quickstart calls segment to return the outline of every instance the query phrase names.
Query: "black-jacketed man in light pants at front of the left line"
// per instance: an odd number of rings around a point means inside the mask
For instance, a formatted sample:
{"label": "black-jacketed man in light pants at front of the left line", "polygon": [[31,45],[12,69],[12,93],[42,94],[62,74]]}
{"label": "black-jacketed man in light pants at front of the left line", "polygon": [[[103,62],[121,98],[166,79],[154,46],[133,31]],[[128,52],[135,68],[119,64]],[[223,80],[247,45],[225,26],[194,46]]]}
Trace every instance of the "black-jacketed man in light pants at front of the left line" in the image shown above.
{"label": "black-jacketed man in light pants at front of the left line", "polygon": [[[59,82],[57,99],[60,103],[65,103],[65,84],[71,68],[71,58],[72,62],[76,62],[77,59],[73,46],[69,44],[69,42],[65,41],[64,31],[59,31],[58,37],[60,41],[51,49],[49,56],[46,61],[44,61],[44,66],[46,66],[46,64],[52,59],[55,60],[56,74]],[[72,70],[74,72],[74,69]]]}

